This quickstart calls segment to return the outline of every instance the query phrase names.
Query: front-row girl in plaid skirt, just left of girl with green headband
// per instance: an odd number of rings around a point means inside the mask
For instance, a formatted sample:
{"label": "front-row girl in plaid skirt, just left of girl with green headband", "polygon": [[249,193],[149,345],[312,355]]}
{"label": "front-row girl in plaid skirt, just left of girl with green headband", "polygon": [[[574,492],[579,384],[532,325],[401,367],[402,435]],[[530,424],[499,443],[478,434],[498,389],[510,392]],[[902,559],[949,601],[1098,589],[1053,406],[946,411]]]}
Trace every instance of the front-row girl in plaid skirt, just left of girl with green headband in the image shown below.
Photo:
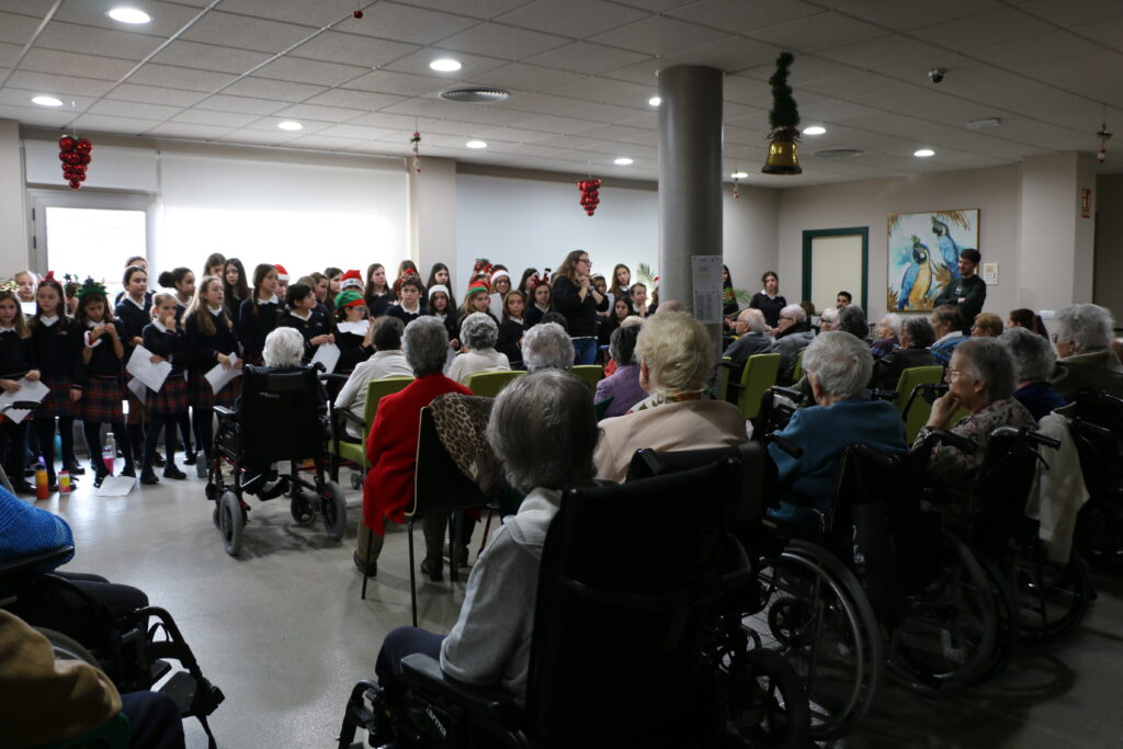
{"label": "front-row girl in plaid skirt, just left of girl with green headband", "polygon": [[74,456],[74,415],[82,390],[74,382],[79,357],[82,353],[82,332],[66,314],[62,285],[48,276],[35,292],[36,311],[28,327],[31,329],[33,360],[51,392],[35,412],[35,437],[39,454],[47,468],[47,485],[55,492],[55,420],[62,442],[61,463],[71,475],[85,471]]}

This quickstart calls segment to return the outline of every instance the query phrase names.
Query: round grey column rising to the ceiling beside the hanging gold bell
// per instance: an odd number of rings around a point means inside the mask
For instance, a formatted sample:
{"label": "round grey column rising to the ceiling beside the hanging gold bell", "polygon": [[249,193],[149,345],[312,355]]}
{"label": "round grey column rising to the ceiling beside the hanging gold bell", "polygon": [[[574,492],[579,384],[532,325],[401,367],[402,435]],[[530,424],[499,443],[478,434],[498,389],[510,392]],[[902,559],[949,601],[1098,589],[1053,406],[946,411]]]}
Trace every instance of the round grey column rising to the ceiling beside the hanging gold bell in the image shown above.
{"label": "round grey column rising to the ceiling beside the hanging gold bell", "polygon": [[[693,310],[691,258],[721,255],[721,99],[715,67],[659,71],[659,300]],[[720,326],[707,326],[720,340]]]}

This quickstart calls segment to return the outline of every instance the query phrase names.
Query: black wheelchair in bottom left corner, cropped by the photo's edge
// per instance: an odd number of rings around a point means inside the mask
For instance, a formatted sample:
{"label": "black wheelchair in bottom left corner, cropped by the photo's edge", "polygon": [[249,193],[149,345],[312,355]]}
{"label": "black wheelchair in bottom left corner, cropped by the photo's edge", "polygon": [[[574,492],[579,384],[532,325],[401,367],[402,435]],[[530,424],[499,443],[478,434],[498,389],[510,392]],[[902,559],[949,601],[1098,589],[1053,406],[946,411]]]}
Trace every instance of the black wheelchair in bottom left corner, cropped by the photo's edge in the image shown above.
{"label": "black wheelchair in bottom left corner, cropped by the photo's edge", "polygon": [[[203,676],[172,615],[158,606],[115,613],[71,581],[38,572],[53,568],[73,552],[73,547],[63,546],[0,564],[0,606],[44,634],[56,658],[85,660],[104,672],[118,692],[155,688],[166,694],[182,718],[199,720],[208,746],[214,749],[207,718],[225,695]],[[61,608],[60,593],[77,602],[76,608]],[[170,661],[177,661],[180,667],[174,668]]]}

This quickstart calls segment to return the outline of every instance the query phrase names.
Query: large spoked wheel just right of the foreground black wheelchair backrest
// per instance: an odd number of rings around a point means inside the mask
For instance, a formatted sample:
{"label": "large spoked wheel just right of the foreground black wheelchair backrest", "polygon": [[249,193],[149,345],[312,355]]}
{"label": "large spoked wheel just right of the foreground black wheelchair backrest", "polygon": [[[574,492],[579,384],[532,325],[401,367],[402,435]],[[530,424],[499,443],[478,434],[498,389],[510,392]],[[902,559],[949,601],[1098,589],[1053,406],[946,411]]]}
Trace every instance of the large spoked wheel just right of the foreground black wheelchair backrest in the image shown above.
{"label": "large spoked wheel just right of the foreground black wheelchair backrest", "polygon": [[877,620],[858,581],[829,551],[798,540],[763,560],[758,581],[764,606],[742,624],[801,677],[811,738],[850,733],[873,705],[882,668]]}

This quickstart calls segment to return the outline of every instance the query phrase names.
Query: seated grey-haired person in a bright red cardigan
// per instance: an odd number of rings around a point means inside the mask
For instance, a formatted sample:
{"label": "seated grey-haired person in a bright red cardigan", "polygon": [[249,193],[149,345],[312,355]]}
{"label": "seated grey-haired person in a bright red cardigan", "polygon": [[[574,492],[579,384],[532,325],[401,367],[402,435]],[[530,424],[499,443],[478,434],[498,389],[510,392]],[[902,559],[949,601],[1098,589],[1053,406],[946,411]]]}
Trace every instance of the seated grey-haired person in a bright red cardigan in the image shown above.
{"label": "seated grey-haired person in a bright red cardigan", "polygon": [[[377,572],[386,520],[404,522],[404,512],[413,502],[421,409],[445,393],[472,394],[467,387],[441,374],[448,350],[448,330],[439,318],[418,318],[405,326],[403,338],[405,358],[417,380],[378,401],[378,412],[366,438],[366,459],[371,464],[363,486],[366,528],[358,531],[354,559],[355,566],[368,575]],[[428,515],[423,521],[426,557],[421,573],[432,581],[442,579],[441,550],[447,521],[447,515]]]}

